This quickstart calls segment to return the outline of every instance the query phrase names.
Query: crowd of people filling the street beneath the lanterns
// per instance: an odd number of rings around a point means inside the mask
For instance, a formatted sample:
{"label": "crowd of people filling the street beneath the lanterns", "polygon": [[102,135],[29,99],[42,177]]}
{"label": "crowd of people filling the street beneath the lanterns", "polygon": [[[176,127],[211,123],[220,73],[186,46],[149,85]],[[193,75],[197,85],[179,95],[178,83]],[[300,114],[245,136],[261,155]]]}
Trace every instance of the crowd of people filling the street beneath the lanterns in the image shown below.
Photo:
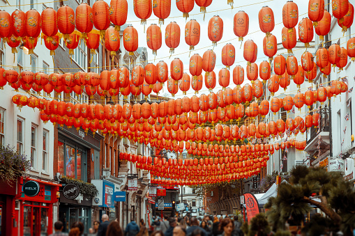
{"label": "crowd of people filling the street beneath the lanterns", "polygon": [[[89,229],[89,236],[242,236],[241,222],[238,217],[233,219],[226,217],[205,216],[201,217],[158,217],[153,219],[150,228],[146,227],[144,220],[139,225],[130,221],[123,230],[119,222],[109,222],[107,214],[103,214],[99,221],[93,222],[93,228]],[[84,235],[84,224],[80,221],[73,223],[68,234],[62,233],[63,223],[54,223],[54,233],[51,236],[81,236]]]}

